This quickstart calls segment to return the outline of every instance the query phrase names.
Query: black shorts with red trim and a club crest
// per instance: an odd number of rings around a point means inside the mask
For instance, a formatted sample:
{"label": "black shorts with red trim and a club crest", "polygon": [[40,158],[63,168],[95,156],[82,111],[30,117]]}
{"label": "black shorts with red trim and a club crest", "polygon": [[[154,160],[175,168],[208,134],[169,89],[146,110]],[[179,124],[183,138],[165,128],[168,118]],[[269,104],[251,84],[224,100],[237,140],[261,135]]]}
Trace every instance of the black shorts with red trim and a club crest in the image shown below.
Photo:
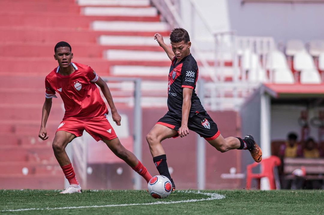
{"label": "black shorts with red trim and a club crest", "polygon": [[[168,128],[172,128],[178,131],[181,127],[181,119],[166,114],[164,115],[164,117],[160,118],[156,124],[164,125]],[[216,123],[206,112],[198,113],[195,116],[189,118],[188,128],[196,132],[206,140],[216,139],[220,135]],[[174,138],[178,136],[179,134]]]}

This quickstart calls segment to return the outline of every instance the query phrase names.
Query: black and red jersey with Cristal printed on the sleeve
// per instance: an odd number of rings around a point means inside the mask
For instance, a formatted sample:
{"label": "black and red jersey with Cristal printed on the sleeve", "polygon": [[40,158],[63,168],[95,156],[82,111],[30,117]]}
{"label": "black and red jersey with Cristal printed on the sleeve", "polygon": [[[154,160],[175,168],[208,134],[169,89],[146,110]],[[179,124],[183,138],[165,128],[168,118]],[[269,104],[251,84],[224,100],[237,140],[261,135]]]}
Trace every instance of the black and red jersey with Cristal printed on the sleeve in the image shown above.
{"label": "black and red jersey with Cristal printed on the sleeve", "polygon": [[191,96],[191,108],[189,117],[197,113],[204,112],[196,92],[196,82],[198,79],[198,66],[196,60],[190,54],[184,57],[180,62],[175,63],[176,57],[173,58],[169,77],[168,77],[168,115],[182,118],[182,88],[188,87],[193,89]]}

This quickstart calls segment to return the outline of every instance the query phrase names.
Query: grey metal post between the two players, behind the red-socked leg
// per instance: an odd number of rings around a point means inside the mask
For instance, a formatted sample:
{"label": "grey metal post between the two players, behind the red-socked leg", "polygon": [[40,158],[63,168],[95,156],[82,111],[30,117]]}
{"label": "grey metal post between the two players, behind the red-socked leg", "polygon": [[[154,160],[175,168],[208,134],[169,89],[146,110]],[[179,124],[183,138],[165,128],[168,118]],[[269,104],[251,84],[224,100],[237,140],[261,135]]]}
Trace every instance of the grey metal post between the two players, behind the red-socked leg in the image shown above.
{"label": "grey metal post between the two players, behind the red-socked leg", "polygon": [[[142,159],[141,79],[134,81],[134,155]],[[134,172],[134,189],[141,189],[141,176]]]}

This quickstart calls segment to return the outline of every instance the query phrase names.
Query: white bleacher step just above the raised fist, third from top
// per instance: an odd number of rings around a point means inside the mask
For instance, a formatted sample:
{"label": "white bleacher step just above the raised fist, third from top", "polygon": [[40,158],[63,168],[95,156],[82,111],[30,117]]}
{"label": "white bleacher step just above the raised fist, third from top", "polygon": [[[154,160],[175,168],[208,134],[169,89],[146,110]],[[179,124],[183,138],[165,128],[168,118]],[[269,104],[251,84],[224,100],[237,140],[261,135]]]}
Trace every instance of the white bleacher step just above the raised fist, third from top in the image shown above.
{"label": "white bleacher step just above the raised fist, third from top", "polygon": [[91,28],[96,31],[168,31],[168,25],[164,22],[94,21],[91,23]]}

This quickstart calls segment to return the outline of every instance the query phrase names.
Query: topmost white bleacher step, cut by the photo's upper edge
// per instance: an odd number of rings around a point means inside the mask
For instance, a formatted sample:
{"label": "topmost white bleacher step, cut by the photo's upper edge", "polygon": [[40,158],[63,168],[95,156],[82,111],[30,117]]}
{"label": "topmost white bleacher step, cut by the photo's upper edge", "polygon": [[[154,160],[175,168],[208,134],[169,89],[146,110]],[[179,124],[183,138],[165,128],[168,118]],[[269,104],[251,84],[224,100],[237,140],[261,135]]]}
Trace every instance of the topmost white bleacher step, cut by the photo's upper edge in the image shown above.
{"label": "topmost white bleacher step, cut by the photo's upper edge", "polygon": [[78,5],[93,6],[149,6],[149,0],[77,0]]}

